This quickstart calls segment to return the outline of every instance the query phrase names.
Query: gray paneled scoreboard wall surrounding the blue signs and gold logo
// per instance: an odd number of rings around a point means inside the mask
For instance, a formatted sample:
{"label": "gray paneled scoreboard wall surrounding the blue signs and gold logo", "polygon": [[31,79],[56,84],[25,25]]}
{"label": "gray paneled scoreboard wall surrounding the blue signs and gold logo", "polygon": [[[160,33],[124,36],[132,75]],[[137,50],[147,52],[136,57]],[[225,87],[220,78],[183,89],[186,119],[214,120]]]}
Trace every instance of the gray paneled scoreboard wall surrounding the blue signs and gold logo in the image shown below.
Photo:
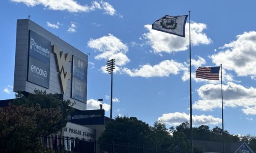
{"label": "gray paneled scoreboard wall surrounding the blue signs and gold logo", "polygon": [[[53,35],[51,32],[43,29],[41,26],[37,25],[30,19],[18,19],[17,20],[17,31],[16,31],[16,52],[15,52],[15,70],[14,70],[14,83],[13,91],[24,91],[33,93],[35,89],[46,90],[47,93],[58,93],[62,94],[61,86],[59,83],[59,72],[57,71],[55,54],[51,52],[51,62],[50,62],[50,82],[49,89],[42,86],[30,83],[27,81],[27,68],[28,68],[28,47],[29,47],[29,30],[36,32],[38,35],[51,41],[52,45],[56,45],[59,51],[64,51],[81,58],[83,61],[88,63],[88,56],[82,51],[69,45],[62,39]],[[69,62],[67,71],[72,72],[72,62]],[[73,108],[79,110],[86,110],[86,103],[80,102],[78,100],[71,98],[71,80],[68,80],[66,92],[64,94],[64,99],[70,99],[75,102]]]}

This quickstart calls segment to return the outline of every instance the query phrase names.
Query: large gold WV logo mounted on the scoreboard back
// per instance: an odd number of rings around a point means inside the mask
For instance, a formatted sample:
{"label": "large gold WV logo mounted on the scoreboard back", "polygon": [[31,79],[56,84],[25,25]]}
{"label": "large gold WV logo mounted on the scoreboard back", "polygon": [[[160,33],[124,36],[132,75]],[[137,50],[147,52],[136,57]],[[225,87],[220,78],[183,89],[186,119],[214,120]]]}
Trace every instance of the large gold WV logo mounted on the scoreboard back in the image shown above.
{"label": "large gold WV logo mounted on the scoreboard back", "polygon": [[71,62],[71,55],[64,54],[63,51],[59,51],[56,45],[53,45],[52,49],[56,57],[59,79],[62,86],[62,92],[64,94],[66,91],[67,81],[71,80],[71,73],[67,71],[68,64]]}

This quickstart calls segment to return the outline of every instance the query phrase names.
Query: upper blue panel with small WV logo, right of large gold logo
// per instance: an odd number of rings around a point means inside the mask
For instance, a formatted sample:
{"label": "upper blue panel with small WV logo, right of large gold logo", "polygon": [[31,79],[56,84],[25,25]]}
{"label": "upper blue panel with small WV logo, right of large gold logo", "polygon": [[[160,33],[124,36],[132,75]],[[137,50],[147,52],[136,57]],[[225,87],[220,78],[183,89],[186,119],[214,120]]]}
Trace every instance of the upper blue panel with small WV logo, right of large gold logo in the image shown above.
{"label": "upper blue panel with small WV logo, right of large gold logo", "polygon": [[87,62],[73,56],[72,76],[87,83]]}

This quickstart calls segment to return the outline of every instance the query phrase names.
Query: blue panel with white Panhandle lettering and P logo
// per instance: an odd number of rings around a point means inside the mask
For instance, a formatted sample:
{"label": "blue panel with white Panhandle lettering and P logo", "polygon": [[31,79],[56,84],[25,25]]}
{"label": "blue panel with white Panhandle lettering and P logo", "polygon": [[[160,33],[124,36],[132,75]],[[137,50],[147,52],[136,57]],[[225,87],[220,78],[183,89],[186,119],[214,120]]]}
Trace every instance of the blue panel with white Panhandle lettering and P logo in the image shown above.
{"label": "blue panel with white Panhandle lettering and P logo", "polygon": [[50,63],[51,41],[30,30],[29,48],[30,56],[46,64]]}

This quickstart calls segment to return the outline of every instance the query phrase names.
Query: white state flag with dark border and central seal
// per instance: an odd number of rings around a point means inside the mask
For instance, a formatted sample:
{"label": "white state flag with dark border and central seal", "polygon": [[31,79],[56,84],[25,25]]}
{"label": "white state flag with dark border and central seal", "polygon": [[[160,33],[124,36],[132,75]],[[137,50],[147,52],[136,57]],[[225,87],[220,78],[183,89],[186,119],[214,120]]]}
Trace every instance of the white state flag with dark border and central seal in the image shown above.
{"label": "white state flag with dark border and central seal", "polygon": [[152,24],[152,29],[185,37],[185,25],[187,21],[187,16],[188,15],[165,15],[164,17],[161,17]]}

